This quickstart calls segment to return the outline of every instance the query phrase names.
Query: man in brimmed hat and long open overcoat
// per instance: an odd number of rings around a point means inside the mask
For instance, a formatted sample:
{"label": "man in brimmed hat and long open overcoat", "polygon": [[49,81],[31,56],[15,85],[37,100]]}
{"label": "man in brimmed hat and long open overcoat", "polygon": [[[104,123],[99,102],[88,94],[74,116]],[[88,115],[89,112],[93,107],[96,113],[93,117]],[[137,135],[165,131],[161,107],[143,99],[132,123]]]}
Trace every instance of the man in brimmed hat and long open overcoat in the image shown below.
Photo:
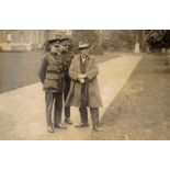
{"label": "man in brimmed hat and long open overcoat", "polygon": [[87,106],[89,106],[93,131],[99,132],[101,131],[99,127],[99,107],[102,106],[97,79],[99,69],[95,63],[95,57],[89,55],[89,47],[90,45],[87,41],[81,41],[78,47],[80,54],[75,56],[71,61],[69,68],[71,84],[66,105],[79,107],[81,123],[75,125],[75,127],[89,126],[87,111]]}

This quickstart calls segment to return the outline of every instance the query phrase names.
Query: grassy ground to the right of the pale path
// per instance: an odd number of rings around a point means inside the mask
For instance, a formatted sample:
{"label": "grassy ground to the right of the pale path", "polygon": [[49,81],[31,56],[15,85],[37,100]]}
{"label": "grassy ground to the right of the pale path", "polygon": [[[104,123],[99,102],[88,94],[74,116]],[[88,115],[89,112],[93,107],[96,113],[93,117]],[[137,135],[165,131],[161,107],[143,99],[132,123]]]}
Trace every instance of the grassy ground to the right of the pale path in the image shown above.
{"label": "grassy ground to the right of the pale path", "polygon": [[163,65],[156,55],[143,56],[104,113],[103,132],[88,139],[170,139],[170,65]]}

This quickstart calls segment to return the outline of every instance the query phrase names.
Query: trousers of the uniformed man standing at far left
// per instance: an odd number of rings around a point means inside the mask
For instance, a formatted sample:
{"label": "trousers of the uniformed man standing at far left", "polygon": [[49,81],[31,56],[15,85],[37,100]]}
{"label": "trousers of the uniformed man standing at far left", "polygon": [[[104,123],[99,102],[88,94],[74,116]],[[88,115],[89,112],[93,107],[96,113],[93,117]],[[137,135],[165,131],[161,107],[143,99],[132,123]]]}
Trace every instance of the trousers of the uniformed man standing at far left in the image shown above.
{"label": "trousers of the uniformed man standing at far left", "polygon": [[53,125],[53,105],[54,105],[54,124],[60,124],[63,112],[63,93],[45,92],[46,102],[46,121],[47,125]]}

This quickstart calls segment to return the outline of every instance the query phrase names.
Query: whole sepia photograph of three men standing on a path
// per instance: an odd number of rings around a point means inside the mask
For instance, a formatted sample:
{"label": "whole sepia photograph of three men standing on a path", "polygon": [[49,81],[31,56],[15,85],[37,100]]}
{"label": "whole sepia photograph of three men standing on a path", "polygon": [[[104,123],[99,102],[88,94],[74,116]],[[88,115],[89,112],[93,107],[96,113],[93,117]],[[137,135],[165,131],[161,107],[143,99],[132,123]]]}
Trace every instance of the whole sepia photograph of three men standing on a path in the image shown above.
{"label": "whole sepia photograph of three men standing on a path", "polygon": [[169,140],[170,30],[0,30],[0,140]]}

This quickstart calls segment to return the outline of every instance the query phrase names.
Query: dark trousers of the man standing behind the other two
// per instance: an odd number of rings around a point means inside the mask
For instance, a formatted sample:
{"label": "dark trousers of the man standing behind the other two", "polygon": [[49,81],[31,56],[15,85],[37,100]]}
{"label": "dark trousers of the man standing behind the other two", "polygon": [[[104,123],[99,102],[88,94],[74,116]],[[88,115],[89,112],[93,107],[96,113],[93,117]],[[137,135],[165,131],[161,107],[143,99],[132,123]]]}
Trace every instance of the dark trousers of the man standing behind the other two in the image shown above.
{"label": "dark trousers of the man standing behind the other two", "polygon": [[[64,91],[64,101],[66,102],[67,95],[70,90],[70,78],[65,76],[65,91]],[[65,106],[65,118],[70,117],[70,106]]]}

